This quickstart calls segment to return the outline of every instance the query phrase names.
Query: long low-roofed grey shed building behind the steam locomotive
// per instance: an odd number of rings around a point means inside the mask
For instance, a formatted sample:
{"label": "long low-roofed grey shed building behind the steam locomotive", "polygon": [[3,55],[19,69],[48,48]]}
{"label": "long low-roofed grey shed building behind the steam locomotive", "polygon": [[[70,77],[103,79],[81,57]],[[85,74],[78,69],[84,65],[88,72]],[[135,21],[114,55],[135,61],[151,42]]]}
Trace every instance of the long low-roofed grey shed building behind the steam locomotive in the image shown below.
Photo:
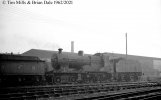
{"label": "long low-roofed grey shed building behind the steam locomotive", "polygon": [[[24,56],[37,56],[41,60],[45,60],[48,63],[49,70],[52,70],[51,67],[51,56],[53,53],[57,53],[58,51],[50,51],[50,50],[40,50],[40,49],[31,49],[29,51],[24,52],[22,55]],[[71,53],[71,52],[63,52],[70,55],[78,55],[78,53]],[[152,77],[152,76],[161,76],[161,58],[155,57],[145,57],[145,56],[136,56],[136,55],[125,55],[125,54],[118,54],[118,53],[103,53],[104,55],[109,56],[109,59],[113,58],[126,58],[131,60],[139,61],[141,64],[141,70],[143,76],[145,78]],[[84,54],[84,56],[89,56],[91,54]],[[117,65],[119,66],[119,65]],[[128,65],[127,65],[128,66]]]}

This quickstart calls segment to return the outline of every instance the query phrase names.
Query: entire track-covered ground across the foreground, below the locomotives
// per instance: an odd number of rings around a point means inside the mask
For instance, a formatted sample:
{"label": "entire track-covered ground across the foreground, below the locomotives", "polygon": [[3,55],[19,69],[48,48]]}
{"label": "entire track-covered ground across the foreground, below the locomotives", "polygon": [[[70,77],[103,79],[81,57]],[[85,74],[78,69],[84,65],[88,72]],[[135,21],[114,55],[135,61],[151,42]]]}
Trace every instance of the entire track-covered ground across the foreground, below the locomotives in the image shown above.
{"label": "entire track-covered ground across the foreground, below the locomotives", "polygon": [[0,100],[157,100],[158,83],[97,83],[1,88]]}

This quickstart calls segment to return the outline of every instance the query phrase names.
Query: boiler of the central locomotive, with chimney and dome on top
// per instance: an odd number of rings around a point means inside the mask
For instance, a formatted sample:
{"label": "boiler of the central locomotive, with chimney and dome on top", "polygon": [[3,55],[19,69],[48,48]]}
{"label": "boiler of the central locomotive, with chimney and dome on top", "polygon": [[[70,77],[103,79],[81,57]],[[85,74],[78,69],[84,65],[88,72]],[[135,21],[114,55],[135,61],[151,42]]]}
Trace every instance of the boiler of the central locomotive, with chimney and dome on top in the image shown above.
{"label": "boiler of the central locomotive, with chimney and dome on top", "polygon": [[78,54],[65,54],[62,49],[54,53],[51,58],[52,67],[55,71],[98,71],[104,66],[105,59],[100,56],[84,55],[83,51]]}

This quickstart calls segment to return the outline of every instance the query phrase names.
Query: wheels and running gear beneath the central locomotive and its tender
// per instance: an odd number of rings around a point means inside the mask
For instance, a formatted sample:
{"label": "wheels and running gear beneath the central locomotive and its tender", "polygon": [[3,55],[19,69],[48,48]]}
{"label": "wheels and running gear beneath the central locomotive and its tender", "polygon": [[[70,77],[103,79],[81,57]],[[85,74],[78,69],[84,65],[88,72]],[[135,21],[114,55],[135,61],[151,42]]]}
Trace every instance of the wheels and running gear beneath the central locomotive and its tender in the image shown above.
{"label": "wheels and running gear beneath the central locomotive and its tender", "polygon": [[46,79],[49,84],[76,84],[76,83],[109,83],[109,82],[137,82],[140,72],[120,72],[114,75],[107,72],[72,72],[49,73]]}

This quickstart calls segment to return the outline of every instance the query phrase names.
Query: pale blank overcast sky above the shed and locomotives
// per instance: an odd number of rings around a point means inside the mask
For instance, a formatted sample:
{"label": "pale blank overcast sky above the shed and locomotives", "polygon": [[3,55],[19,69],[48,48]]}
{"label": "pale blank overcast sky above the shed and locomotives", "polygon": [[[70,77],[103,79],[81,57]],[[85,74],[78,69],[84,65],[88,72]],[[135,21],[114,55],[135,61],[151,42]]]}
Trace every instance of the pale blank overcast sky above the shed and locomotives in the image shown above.
{"label": "pale blank overcast sky above the shed and locomotives", "polygon": [[127,32],[128,54],[161,58],[161,0],[72,0],[68,5],[2,1],[1,53],[60,47],[70,52],[74,41],[75,52],[125,54]]}

